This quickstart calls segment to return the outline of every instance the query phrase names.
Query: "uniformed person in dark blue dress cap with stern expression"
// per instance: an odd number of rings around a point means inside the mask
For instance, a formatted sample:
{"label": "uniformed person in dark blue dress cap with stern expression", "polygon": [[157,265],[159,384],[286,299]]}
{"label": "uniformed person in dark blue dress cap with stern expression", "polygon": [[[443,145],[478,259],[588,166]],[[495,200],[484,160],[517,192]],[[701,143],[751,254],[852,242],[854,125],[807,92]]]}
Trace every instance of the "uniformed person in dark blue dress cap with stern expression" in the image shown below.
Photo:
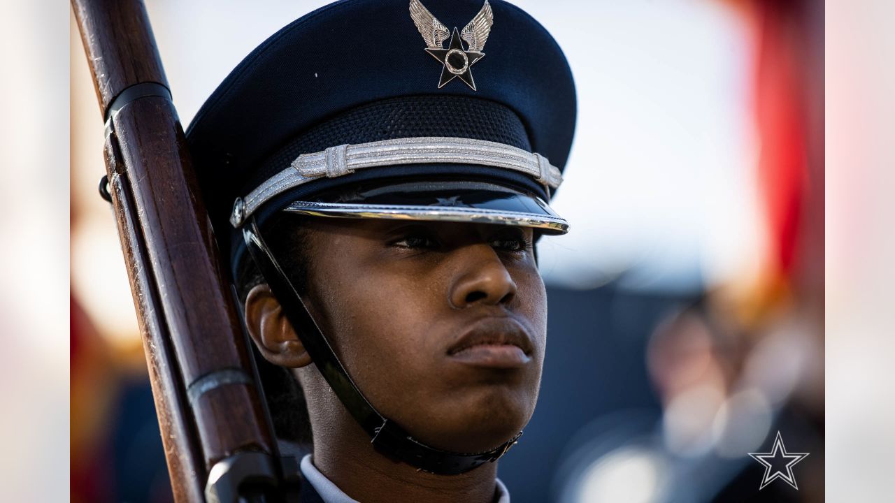
{"label": "uniformed person in dark blue dress cap with stern expression", "polygon": [[565,57],[499,0],[328,5],[202,107],[187,138],[248,333],[307,403],[303,501],[508,501],[574,125]]}

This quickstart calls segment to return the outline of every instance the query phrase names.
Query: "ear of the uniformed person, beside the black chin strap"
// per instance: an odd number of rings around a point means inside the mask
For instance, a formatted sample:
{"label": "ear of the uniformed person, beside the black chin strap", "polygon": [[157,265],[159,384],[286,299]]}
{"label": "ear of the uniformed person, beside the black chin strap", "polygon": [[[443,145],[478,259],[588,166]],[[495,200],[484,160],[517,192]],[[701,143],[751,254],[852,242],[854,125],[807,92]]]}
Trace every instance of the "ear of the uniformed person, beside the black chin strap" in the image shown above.
{"label": "ear of the uniformed person, beside the black chin strap", "polygon": [[311,356],[266,284],[254,286],[246,296],[245,324],[251,340],[268,362],[293,369],[311,363]]}

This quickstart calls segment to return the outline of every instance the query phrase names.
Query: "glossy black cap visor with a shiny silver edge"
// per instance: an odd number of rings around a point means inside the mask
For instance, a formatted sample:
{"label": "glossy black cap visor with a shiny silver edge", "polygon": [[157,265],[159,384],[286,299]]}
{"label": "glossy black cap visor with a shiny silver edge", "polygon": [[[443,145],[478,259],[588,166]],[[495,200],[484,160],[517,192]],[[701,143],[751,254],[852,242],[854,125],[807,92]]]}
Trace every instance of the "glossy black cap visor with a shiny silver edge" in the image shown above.
{"label": "glossy black cap visor with a shiny silver edge", "polygon": [[566,234],[568,223],[540,197],[495,183],[425,181],[360,186],[296,200],[283,211],[315,217],[470,222]]}

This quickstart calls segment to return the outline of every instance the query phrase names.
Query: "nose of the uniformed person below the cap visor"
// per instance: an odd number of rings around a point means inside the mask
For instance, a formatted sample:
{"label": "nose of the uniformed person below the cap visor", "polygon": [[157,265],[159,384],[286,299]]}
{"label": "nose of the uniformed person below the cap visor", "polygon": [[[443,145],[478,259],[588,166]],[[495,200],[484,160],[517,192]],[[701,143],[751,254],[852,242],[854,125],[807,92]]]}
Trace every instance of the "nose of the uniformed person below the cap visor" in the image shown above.
{"label": "nose of the uniformed person below the cap visor", "polygon": [[507,305],[516,297],[516,283],[490,244],[465,246],[456,259],[460,266],[449,293],[455,308]]}

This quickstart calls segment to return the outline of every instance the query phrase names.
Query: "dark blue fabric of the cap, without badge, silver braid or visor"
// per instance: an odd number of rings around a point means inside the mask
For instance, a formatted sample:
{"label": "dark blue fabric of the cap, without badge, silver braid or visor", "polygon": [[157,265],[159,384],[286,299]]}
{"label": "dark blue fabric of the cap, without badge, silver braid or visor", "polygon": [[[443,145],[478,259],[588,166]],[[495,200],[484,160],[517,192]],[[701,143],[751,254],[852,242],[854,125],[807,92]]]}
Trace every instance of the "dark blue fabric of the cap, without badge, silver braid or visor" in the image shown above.
{"label": "dark blue fabric of the cap, without badge, silver braid or visor", "polygon": [[[422,4],[452,31],[462,30],[482,10],[481,0]],[[493,26],[481,51],[485,56],[470,67],[475,90],[461,79],[439,88],[444,66],[427,54],[407,0],[329,4],[246,56],[187,131],[224,252],[238,248],[239,238],[231,240],[227,223],[236,198],[300,154],[341,144],[471,138],[537,152],[561,170],[575,127],[575,86],[566,58],[550,34],[516,6],[493,0],[490,8]],[[322,178],[268,200],[258,217],[341,185],[432,176],[475,178],[549,198],[527,175],[488,166],[421,164]]]}

